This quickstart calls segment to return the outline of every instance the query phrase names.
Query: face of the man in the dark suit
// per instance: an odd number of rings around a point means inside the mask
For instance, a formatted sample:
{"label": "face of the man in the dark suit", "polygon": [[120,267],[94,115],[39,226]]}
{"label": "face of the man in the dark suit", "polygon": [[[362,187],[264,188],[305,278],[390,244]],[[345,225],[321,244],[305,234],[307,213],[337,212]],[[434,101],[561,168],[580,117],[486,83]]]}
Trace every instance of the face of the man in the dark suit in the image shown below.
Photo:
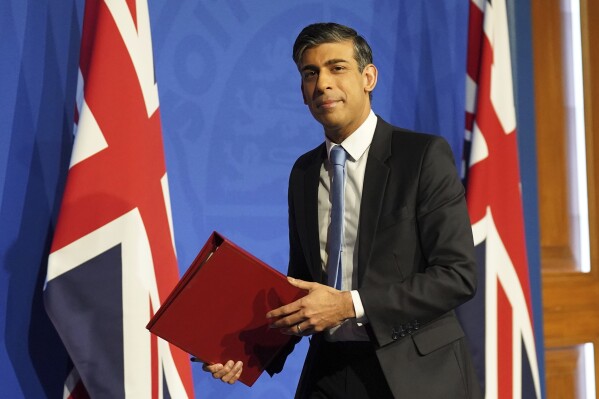
{"label": "face of the man in the dark suit", "polygon": [[329,139],[340,143],[368,117],[376,68],[370,64],[360,72],[353,43],[347,40],[307,49],[299,70],[304,103]]}

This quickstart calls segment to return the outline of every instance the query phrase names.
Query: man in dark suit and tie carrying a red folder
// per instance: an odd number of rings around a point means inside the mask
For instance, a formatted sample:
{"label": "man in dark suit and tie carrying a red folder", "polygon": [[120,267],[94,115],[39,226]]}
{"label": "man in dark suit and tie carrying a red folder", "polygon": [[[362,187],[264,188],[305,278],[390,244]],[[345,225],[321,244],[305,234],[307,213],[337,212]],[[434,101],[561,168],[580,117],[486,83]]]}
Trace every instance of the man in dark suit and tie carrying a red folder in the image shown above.
{"label": "man in dark suit and tie carrying a red folder", "polygon": [[[288,274],[308,294],[267,315],[283,333],[312,336],[296,397],[481,397],[454,313],[475,293],[476,267],[449,146],[374,115],[377,69],[353,29],[307,26],[293,51],[325,133],[289,180]],[[327,285],[336,146],[347,157],[339,288]],[[229,383],[242,372],[232,361],[204,368]]]}

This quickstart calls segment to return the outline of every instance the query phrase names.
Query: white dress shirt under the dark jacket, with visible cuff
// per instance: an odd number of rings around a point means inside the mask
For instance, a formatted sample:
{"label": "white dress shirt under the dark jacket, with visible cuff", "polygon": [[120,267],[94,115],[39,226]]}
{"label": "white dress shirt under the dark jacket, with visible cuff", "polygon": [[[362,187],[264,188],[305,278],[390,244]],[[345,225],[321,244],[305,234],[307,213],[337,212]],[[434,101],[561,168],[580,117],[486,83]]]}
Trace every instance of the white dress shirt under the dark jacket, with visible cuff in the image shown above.
{"label": "white dress shirt under the dark jacket, with visible cuff", "polygon": [[[360,294],[355,289],[358,285],[358,229],[360,220],[360,203],[362,201],[362,188],[364,186],[364,172],[368,151],[374,136],[377,117],[370,114],[360,127],[347,137],[340,145],[348,154],[345,163],[345,212],[343,217],[343,242],[341,252],[342,279],[341,289],[351,290],[356,318],[346,320],[338,327],[331,329],[327,334],[329,341],[368,341],[368,334],[363,323],[367,322]],[[325,139],[327,154],[335,143]],[[320,238],[320,259],[323,270],[326,270],[328,253],[327,237],[331,222],[331,180],[333,170],[327,160],[320,168],[318,184],[318,228]]]}

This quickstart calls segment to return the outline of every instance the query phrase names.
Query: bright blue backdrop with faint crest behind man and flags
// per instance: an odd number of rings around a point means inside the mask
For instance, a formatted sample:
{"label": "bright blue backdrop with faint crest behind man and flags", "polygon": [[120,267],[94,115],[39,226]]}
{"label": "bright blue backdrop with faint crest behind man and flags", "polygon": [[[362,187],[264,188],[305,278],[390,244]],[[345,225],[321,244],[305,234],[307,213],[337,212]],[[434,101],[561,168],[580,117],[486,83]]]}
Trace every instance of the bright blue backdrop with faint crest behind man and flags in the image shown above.
{"label": "bright blue backdrop with faint crest behind man and flags", "polygon": [[[356,28],[379,69],[375,112],[443,135],[461,158],[465,0],[149,6],[181,272],[212,230],[286,271],[288,173],[323,140],[291,60],[309,23]],[[68,365],[41,289],[72,146],[82,12],[83,0],[0,2],[0,397],[62,397]],[[305,350],[304,342],[281,375],[252,389],[219,384],[196,366],[196,396],[290,398]]]}

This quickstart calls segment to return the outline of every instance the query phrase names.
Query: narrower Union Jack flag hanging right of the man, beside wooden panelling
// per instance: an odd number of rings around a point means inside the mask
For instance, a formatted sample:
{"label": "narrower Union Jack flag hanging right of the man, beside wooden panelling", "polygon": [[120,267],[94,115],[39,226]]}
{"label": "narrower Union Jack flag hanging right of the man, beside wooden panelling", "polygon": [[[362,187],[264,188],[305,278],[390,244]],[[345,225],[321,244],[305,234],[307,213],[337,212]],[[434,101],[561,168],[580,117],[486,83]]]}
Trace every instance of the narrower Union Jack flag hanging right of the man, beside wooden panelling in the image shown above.
{"label": "narrower Union Jack flag hanging right of the man, beside wooden panelling", "polygon": [[470,2],[467,69],[466,197],[479,290],[461,319],[486,399],[540,398],[505,0]]}

